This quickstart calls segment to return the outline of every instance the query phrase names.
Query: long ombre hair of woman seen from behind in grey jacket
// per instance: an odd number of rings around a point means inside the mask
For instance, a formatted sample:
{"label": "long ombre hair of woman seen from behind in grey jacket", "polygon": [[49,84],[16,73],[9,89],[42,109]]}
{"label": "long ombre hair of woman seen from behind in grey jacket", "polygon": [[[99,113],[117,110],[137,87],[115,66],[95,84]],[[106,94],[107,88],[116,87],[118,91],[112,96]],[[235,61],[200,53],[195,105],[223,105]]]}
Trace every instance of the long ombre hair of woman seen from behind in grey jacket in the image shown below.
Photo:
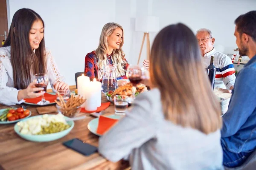
{"label": "long ombre hair of woman seen from behind in grey jacket", "polygon": [[156,36],[150,57],[150,79],[161,93],[167,120],[203,133],[221,128],[221,110],[202,66],[193,32],[178,23]]}

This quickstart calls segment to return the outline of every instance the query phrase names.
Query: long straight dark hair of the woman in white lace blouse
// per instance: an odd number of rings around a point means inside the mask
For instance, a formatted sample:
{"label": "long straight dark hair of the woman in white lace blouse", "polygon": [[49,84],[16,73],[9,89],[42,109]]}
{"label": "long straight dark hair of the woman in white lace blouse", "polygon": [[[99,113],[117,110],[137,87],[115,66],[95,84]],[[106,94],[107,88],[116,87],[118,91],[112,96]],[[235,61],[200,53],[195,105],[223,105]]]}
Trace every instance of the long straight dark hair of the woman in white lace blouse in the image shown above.
{"label": "long straight dark hair of the woman in white lace blouse", "polygon": [[32,81],[32,75],[46,73],[46,57],[44,38],[39,48],[33,52],[29,44],[29,33],[32,24],[42,18],[33,10],[22,8],[15,12],[8,37],[3,47],[11,46],[11,63],[14,85],[17,89],[25,89]]}

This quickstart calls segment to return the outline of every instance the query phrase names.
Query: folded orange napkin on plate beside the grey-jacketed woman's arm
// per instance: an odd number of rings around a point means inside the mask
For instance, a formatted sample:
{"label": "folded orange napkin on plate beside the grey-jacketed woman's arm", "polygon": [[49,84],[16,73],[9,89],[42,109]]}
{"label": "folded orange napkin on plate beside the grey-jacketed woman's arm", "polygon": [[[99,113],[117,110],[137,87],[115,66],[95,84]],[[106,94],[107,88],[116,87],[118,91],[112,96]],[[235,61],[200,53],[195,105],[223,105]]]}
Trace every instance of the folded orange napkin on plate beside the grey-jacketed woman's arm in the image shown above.
{"label": "folded orange napkin on plate beside the grey-jacketed woman's arm", "polygon": [[111,119],[105,116],[99,116],[99,124],[96,132],[99,133],[100,135],[103,135],[118,121],[118,119]]}

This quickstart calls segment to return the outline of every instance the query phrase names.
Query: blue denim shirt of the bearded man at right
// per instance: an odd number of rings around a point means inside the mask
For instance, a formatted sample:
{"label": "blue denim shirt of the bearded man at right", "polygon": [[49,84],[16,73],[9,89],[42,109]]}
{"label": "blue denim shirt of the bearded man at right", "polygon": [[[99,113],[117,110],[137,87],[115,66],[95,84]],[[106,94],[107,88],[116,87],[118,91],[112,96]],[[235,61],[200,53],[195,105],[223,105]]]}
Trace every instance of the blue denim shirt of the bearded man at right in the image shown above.
{"label": "blue denim shirt of the bearded man at right", "polygon": [[236,77],[221,141],[230,152],[251,152],[256,148],[256,55]]}

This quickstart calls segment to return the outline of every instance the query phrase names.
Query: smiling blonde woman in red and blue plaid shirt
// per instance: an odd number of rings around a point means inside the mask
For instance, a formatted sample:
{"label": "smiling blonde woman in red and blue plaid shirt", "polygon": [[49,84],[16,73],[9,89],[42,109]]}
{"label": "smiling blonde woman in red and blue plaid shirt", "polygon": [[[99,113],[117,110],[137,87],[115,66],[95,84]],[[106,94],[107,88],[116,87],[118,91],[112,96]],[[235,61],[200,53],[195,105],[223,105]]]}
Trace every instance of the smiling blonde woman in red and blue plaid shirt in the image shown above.
{"label": "smiling blonde woman in red and blue plaid shirt", "polygon": [[117,23],[107,23],[102,28],[99,46],[85,56],[84,73],[90,79],[98,78],[98,72],[105,65],[117,64],[117,79],[127,79],[128,62],[122,51],[123,28]]}

